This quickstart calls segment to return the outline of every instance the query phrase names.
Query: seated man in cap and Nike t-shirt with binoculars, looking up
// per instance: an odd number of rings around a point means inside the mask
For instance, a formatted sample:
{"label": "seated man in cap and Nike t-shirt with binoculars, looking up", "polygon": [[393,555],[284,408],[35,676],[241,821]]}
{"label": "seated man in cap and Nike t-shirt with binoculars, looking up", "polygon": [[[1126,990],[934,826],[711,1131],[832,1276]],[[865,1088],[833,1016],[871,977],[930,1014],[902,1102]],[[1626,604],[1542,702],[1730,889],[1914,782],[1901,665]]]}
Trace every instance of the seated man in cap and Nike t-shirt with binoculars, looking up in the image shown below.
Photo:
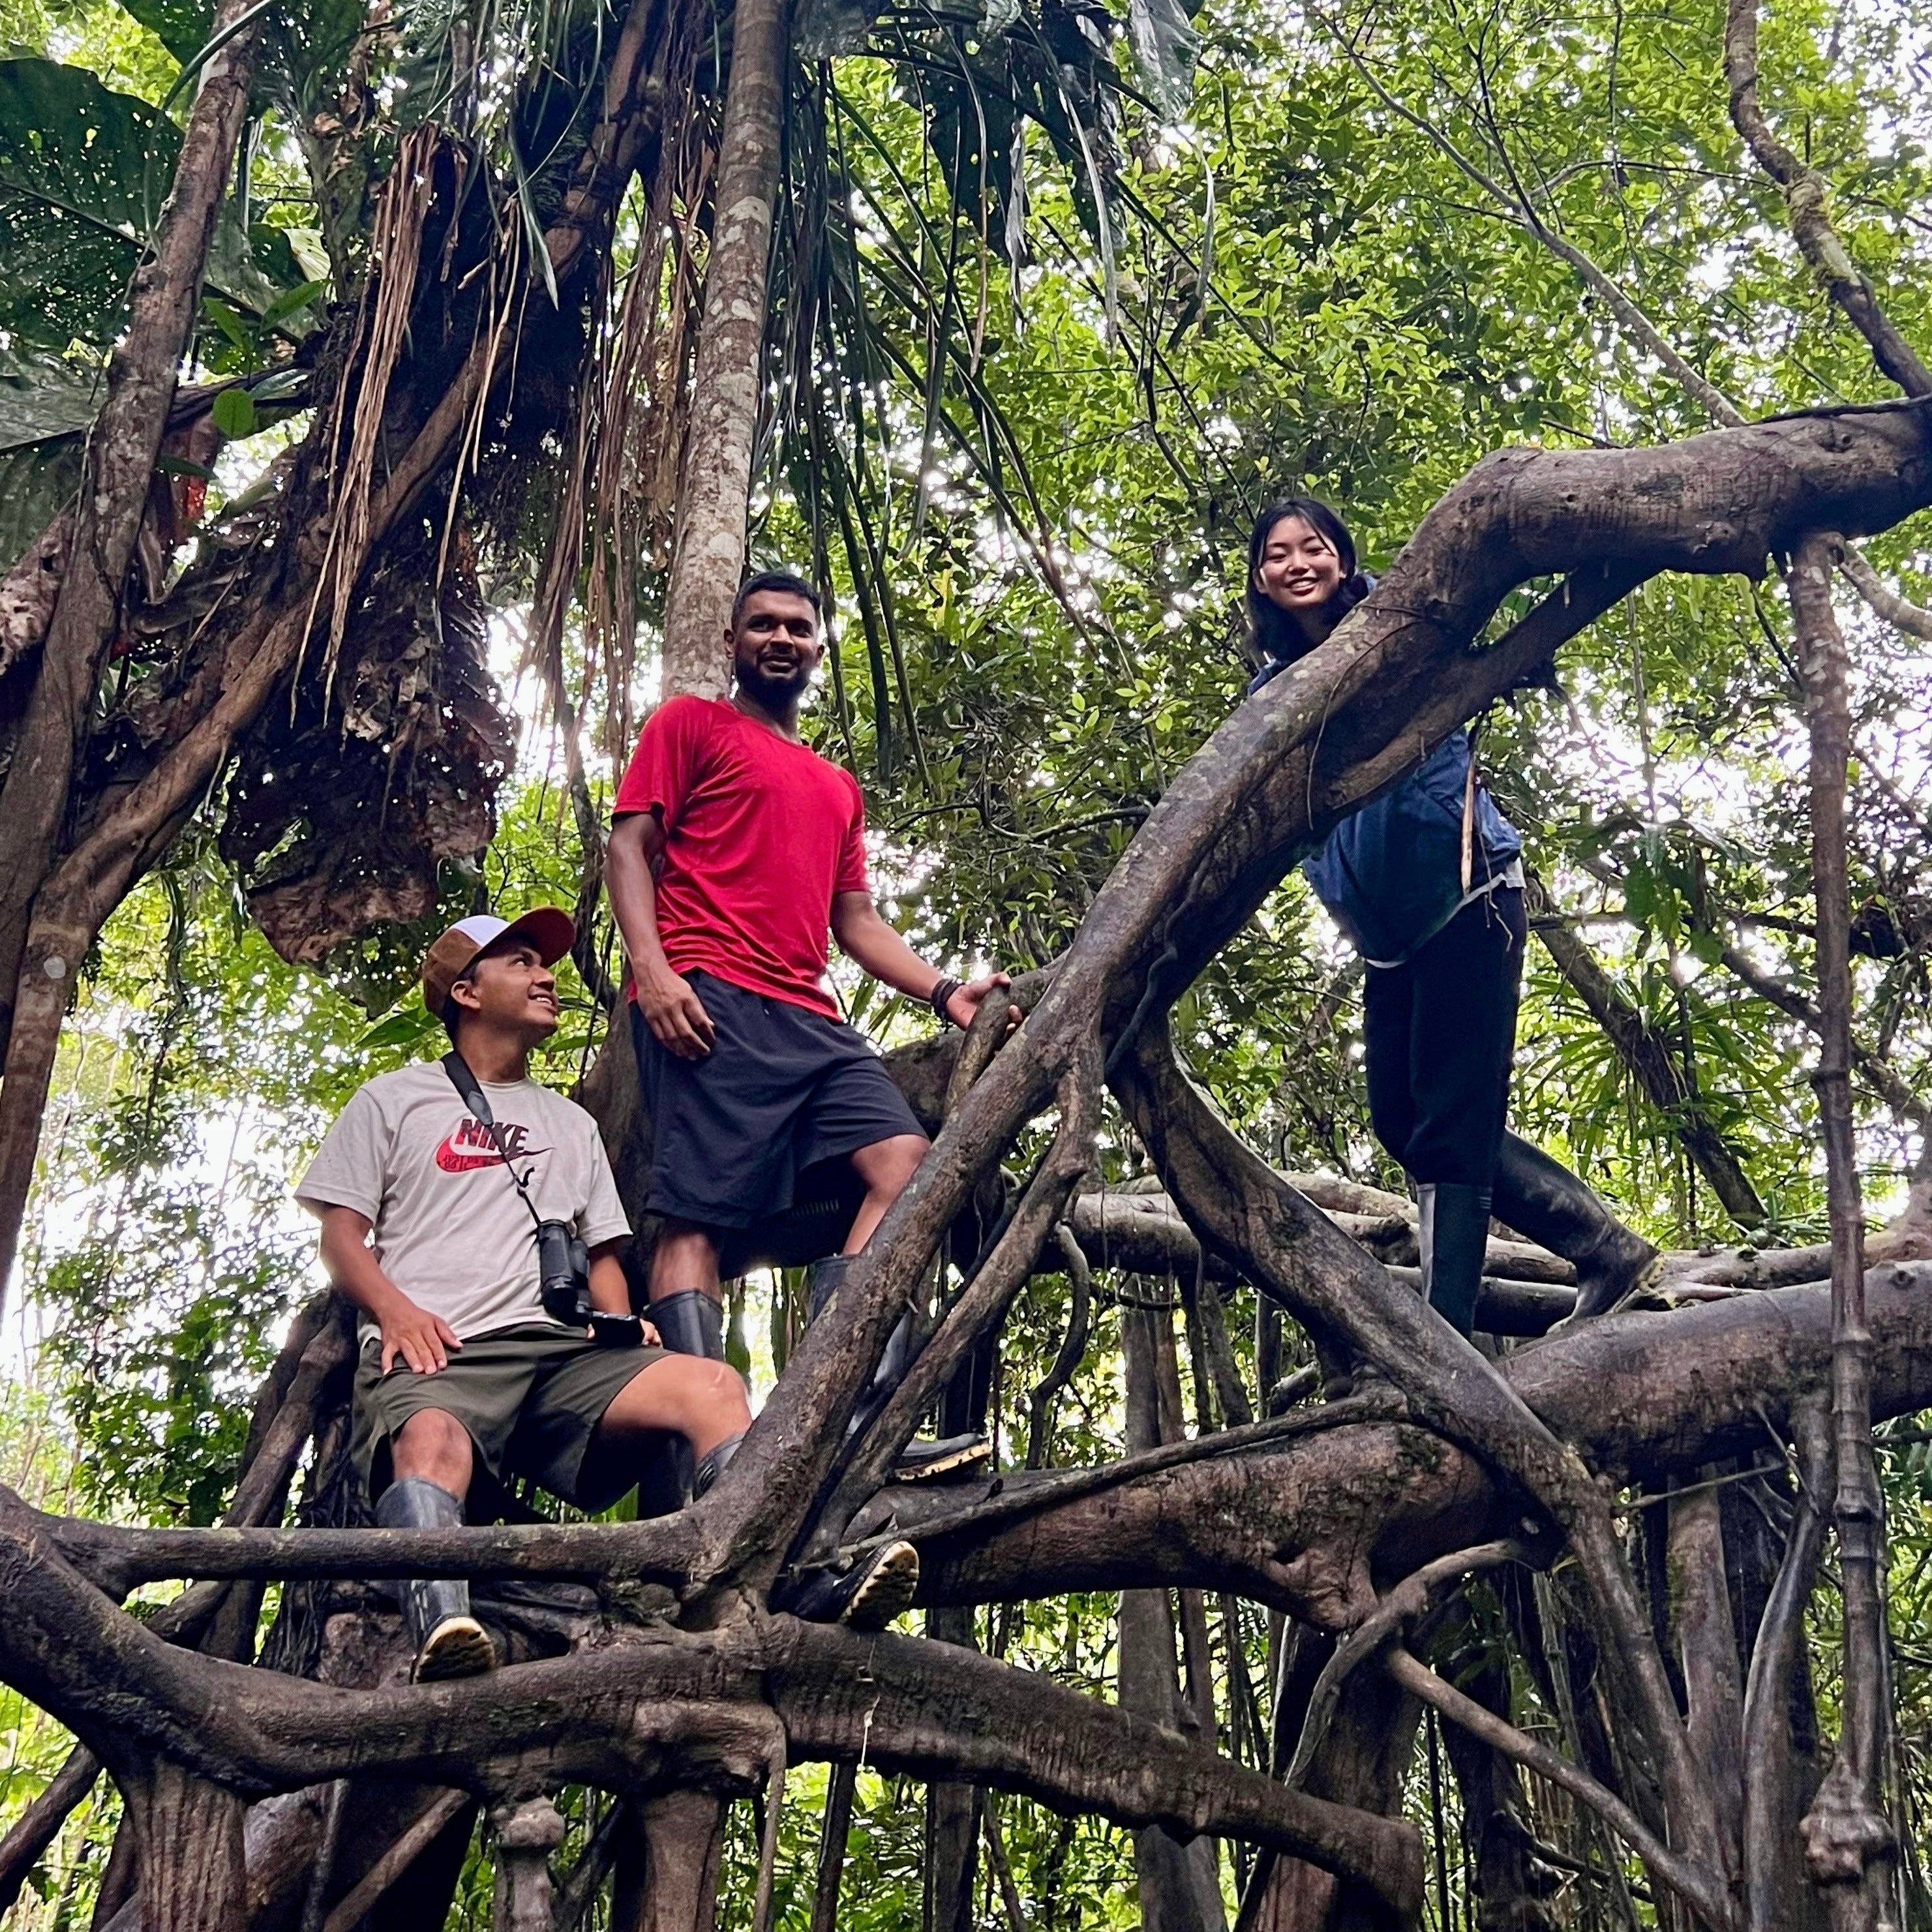
{"label": "seated man in cap and Nike t-shirt with binoculars, looking up", "polygon": [[[442,1065],[381,1074],[296,1188],[321,1217],[323,1265],[361,1310],[352,1455],[386,1528],[462,1522],[477,1463],[607,1509],[667,1432],[709,1488],[752,1422],[732,1368],[668,1354],[632,1314],[618,1260],[630,1227],[597,1124],[529,1078],[531,1047],[556,1030],[551,962],[572,937],[551,906],[444,933],[423,999],[483,1109]],[[587,1325],[543,1306],[539,1221],[568,1223],[589,1250]],[[408,1582],[402,1598],[417,1679],[497,1662],[466,1584]]]}

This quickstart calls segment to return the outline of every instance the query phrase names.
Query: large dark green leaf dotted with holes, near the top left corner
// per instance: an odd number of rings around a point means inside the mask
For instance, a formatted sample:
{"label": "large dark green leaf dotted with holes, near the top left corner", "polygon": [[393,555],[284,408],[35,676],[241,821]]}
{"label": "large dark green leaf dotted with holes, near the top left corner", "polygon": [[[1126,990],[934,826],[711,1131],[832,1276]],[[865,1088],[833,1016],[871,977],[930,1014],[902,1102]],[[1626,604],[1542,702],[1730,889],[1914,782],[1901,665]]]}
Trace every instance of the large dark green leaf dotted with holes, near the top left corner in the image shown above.
{"label": "large dark green leaf dotted with holes, near the top left corner", "polygon": [[[180,145],[174,122],[85,68],[0,60],[0,328],[52,350],[112,344]],[[301,280],[288,242],[272,230],[243,234],[232,203],[207,274],[251,315]]]}

